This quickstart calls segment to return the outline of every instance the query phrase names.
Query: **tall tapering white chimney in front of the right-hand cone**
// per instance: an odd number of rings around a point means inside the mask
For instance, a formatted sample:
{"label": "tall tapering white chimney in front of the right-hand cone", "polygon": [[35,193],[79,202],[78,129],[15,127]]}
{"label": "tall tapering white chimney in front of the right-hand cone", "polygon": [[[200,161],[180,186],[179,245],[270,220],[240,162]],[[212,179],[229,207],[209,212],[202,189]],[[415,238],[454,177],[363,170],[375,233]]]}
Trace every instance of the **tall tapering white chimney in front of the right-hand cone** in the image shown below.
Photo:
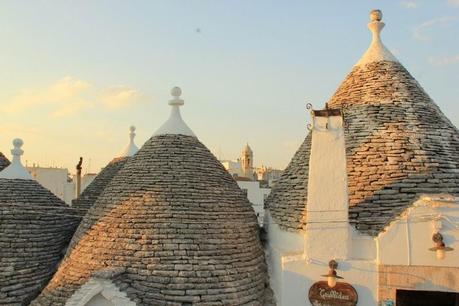
{"label": "tall tapering white chimney in front of the right-hand cone", "polygon": [[345,259],[349,251],[346,150],[341,110],[312,111],[305,255]]}

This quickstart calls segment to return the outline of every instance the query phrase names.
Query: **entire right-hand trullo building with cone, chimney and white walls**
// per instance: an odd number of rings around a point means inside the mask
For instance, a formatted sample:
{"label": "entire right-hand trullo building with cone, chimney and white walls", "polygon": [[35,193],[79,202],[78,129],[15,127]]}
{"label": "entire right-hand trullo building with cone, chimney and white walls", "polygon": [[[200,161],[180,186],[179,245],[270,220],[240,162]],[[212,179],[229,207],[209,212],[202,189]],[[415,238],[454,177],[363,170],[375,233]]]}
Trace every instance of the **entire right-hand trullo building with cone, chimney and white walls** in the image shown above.
{"label": "entire right-hand trullo building with cone, chimney and white walls", "polygon": [[459,301],[459,133],[370,18],[370,47],[267,200],[277,305]]}

